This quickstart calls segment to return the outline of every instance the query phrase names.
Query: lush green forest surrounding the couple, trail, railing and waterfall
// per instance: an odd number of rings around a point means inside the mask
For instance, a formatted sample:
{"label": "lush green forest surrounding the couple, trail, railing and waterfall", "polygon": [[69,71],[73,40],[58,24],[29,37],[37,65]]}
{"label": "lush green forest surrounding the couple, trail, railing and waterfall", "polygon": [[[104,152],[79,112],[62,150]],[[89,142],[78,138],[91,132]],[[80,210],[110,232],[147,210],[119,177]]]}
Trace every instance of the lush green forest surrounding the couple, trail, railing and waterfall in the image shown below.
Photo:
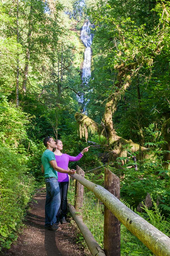
{"label": "lush green forest surrounding the couple, trail, railing and waterfall", "polygon": [[[104,186],[107,164],[121,201],[170,237],[169,24],[164,0],[0,0],[0,250],[17,240],[44,186],[46,136],[70,155],[99,145],[78,163],[100,167],[85,178]],[[85,194],[83,220],[103,247],[104,206]],[[124,226],[121,234],[121,256],[154,255]]]}

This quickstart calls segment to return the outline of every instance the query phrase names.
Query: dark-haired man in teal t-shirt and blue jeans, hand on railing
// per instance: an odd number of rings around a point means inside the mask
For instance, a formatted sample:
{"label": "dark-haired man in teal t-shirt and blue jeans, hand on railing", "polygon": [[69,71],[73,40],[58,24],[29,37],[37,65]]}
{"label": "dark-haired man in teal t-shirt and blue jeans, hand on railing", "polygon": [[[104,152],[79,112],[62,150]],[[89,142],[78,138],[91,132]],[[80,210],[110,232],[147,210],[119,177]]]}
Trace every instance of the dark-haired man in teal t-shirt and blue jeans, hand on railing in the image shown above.
{"label": "dark-haired man in teal t-shirt and blue jeans, hand on railing", "polygon": [[41,171],[44,173],[46,184],[45,228],[59,231],[61,228],[56,224],[56,215],[61,201],[57,171],[68,174],[74,174],[76,171],[74,169],[65,170],[57,166],[55,155],[52,152],[53,148],[56,148],[56,142],[52,137],[44,138],[43,143],[46,146],[41,157]]}

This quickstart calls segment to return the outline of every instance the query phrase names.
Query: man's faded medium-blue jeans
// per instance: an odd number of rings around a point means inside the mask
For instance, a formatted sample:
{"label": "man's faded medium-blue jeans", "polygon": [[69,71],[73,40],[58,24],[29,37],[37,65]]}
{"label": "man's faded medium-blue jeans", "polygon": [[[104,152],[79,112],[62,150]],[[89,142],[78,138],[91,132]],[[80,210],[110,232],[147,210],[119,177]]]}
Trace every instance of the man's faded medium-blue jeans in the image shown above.
{"label": "man's faded medium-blue jeans", "polygon": [[60,207],[60,191],[56,178],[46,178],[45,227],[56,223],[56,215]]}

